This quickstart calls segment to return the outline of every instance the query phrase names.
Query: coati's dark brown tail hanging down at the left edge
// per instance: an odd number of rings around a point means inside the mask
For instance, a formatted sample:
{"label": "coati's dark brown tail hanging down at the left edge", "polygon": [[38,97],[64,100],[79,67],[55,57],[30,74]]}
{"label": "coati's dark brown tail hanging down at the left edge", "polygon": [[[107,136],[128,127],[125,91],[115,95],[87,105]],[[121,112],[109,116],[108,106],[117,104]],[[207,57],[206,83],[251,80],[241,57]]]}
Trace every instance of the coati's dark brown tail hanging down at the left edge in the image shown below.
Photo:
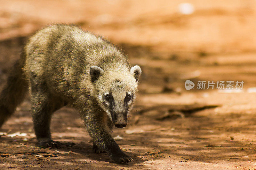
{"label": "coati's dark brown tail hanging down at the left edge", "polygon": [[0,94],[0,128],[3,123],[13,114],[16,107],[23,101],[28,89],[22,68],[25,64],[25,54],[22,52],[9,73],[7,83]]}

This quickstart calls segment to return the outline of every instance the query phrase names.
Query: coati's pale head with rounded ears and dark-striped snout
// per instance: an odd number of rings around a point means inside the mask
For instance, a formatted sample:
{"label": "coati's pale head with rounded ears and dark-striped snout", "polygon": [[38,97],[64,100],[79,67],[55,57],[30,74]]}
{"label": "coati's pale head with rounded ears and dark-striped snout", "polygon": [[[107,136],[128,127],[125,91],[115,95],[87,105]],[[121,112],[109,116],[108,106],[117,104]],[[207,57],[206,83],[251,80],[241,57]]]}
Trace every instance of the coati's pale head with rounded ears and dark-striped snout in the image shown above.
{"label": "coati's pale head with rounded ears and dark-striped snout", "polygon": [[140,66],[105,69],[98,66],[90,68],[91,81],[100,107],[108,114],[117,128],[127,124],[127,115],[132,109],[139,77]]}

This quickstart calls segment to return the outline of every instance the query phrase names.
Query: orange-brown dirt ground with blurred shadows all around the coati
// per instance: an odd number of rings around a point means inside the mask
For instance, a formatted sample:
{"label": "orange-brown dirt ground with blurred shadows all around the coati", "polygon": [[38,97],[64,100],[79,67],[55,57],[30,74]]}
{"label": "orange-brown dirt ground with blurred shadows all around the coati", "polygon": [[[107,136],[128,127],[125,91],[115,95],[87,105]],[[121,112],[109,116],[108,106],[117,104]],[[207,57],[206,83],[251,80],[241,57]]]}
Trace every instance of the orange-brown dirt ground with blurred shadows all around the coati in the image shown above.
{"label": "orange-brown dirt ground with blurred shadows all around the coati", "polygon": [[[36,146],[29,96],[0,129],[0,169],[256,169],[256,1],[2,1],[0,87],[26,37],[75,23],[123,48],[142,75],[128,126],[113,136],[134,162],[92,153],[72,108],[52,118],[61,148]],[[244,81],[243,90],[185,89],[185,81]]]}

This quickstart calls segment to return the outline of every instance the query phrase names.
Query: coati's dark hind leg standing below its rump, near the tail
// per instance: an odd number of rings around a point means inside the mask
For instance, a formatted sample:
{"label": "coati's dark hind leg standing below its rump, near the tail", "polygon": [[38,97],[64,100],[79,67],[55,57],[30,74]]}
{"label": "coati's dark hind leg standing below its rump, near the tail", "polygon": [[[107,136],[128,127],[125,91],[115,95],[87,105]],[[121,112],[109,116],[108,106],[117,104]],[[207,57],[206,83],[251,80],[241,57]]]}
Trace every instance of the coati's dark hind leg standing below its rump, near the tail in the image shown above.
{"label": "coati's dark hind leg standing below its rump, near the tail", "polygon": [[44,148],[58,147],[60,143],[51,139],[50,122],[52,113],[63,105],[58,102],[60,101],[59,99],[54,99],[52,95],[47,92],[45,83],[41,83],[36,79],[30,79],[30,83],[32,118],[38,141],[37,145]]}

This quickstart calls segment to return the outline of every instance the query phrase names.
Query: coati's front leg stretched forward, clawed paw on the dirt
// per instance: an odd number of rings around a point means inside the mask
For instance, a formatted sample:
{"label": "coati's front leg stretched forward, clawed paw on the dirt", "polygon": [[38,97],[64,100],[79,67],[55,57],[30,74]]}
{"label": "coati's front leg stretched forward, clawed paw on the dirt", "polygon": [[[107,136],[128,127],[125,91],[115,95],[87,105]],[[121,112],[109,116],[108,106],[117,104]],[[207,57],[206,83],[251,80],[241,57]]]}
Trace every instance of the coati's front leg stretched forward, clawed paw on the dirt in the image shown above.
{"label": "coati's front leg stretched forward, clawed paw on the dirt", "polygon": [[117,163],[133,161],[121,151],[115,140],[111,136],[108,127],[105,123],[102,123],[102,115],[95,109],[90,109],[84,116],[85,128],[89,135],[92,137],[92,141],[102,151],[106,151],[111,159]]}

